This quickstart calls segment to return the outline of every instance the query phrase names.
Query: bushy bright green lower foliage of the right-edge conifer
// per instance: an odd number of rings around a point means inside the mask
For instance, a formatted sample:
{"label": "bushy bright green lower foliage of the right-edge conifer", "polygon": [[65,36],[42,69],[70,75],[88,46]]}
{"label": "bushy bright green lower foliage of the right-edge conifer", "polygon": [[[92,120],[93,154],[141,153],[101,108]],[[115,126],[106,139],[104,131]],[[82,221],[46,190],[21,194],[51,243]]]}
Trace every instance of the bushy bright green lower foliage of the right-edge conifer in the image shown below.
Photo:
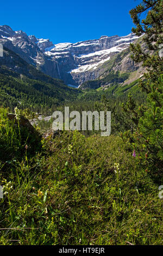
{"label": "bushy bright green lower foliage of the right-edge conifer", "polygon": [[[163,75],[159,79],[159,89],[163,89]],[[158,99],[159,106],[157,101]],[[155,175],[162,174],[162,160],[163,160],[163,99],[162,93],[152,92],[148,94],[148,108],[143,113],[143,117],[139,120],[139,133],[141,142],[141,155],[143,163],[148,166]],[[147,168],[147,169],[148,169]],[[151,168],[151,169],[150,169]]]}

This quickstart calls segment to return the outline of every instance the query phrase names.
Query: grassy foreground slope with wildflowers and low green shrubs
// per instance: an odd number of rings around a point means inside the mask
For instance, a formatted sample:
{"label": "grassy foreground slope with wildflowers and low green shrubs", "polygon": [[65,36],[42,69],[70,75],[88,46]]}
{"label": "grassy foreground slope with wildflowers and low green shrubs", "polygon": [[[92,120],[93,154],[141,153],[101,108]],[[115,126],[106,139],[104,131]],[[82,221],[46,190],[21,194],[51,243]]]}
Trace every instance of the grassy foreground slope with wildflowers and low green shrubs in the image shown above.
{"label": "grassy foreground slope with wildflowers and low green shrubs", "polygon": [[1,245],[162,243],[158,185],[120,137],[26,140],[0,112]]}

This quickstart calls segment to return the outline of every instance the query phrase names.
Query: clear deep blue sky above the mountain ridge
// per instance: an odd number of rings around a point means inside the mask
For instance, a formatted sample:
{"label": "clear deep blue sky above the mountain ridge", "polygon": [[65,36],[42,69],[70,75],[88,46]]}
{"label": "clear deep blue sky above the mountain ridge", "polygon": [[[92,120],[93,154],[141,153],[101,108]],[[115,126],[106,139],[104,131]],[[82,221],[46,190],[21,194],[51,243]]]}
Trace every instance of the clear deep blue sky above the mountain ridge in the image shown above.
{"label": "clear deep blue sky above the mountain ridge", "polygon": [[8,0],[1,1],[0,25],[22,30],[54,44],[127,35],[129,10],[140,0]]}

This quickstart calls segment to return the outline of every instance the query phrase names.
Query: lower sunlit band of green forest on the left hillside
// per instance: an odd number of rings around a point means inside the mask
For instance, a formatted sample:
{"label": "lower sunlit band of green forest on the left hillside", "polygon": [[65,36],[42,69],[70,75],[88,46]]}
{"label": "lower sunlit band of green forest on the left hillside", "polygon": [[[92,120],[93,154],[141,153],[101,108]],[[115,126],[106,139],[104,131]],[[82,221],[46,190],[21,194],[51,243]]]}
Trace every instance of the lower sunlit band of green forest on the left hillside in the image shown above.
{"label": "lower sunlit band of green forest on the left hillside", "polygon": [[[14,77],[0,74],[0,105],[29,108],[32,111],[51,114],[57,106],[66,100],[75,99],[77,90],[62,88],[62,83],[47,83],[28,77]],[[65,86],[66,87],[66,86]]]}

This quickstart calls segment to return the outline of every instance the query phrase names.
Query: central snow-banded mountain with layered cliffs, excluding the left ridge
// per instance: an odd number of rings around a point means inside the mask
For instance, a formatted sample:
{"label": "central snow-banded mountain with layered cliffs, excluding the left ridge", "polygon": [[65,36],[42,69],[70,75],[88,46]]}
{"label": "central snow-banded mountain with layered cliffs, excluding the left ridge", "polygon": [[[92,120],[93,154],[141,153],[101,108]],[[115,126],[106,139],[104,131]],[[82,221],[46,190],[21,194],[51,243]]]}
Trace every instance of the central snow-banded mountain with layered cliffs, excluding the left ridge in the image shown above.
{"label": "central snow-banded mountain with layered cliffs, excluding the left ridge", "polygon": [[[80,86],[88,79],[98,77],[97,68],[114,54],[123,51],[137,39],[133,33],[127,36],[101,36],[99,39],[71,44],[57,44],[45,48],[45,54],[58,61],[59,67],[73,78],[73,85]],[[89,74],[87,76],[86,74]]]}

